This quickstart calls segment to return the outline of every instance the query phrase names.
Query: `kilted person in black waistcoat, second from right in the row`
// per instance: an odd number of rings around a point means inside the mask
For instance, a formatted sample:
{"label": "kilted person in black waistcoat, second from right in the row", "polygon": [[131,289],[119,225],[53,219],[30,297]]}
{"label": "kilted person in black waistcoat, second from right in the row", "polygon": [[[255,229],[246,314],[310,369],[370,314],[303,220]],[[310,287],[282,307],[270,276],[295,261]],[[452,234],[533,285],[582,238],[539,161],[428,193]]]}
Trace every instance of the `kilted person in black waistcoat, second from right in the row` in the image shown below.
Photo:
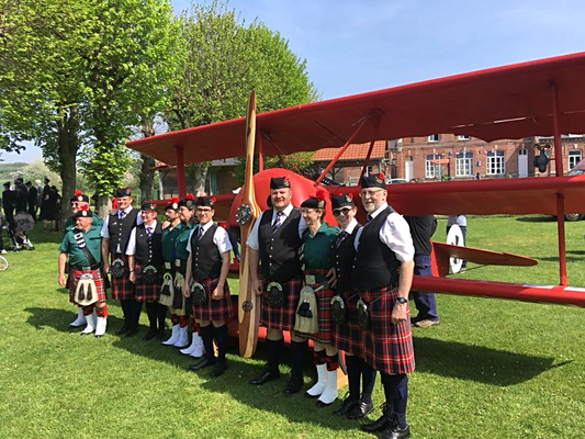
{"label": "kilted person in black waistcoat, second from right in the row", "polygon": [[[334,413],[348,419],[358,419],[373,409],[372,392],[375,370],[362,359],[361,329],[358,325],[358,294],[351,286],[351,271],[356,257],[353,245],[361,225],[356,219],[358,209],[350,194],[333,195],[331,207],[341,232],[334,246],[336,294],[344,301],[345,319],[334,326],[334,346],[346,352],[349,394]],[[360,382],[362,384],[360,392]]]}

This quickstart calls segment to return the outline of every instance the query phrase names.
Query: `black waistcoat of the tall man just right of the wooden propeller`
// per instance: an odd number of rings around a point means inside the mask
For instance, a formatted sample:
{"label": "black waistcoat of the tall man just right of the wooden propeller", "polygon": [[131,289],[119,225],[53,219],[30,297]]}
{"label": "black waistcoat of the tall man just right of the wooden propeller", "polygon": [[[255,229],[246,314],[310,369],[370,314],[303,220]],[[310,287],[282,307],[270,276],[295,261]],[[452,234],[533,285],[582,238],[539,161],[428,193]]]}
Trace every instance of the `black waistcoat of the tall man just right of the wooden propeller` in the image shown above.
{"label": "black waistcoat of the tall man just right of the wooden propeller", "polygon": [[299,236],[300,221],[301,211],[293,209],[272,235],[272,210],[262,214],[258,227],[258,243],[263,279],[286,283],[303,273],[299,261],[299,248],[303,244]]}

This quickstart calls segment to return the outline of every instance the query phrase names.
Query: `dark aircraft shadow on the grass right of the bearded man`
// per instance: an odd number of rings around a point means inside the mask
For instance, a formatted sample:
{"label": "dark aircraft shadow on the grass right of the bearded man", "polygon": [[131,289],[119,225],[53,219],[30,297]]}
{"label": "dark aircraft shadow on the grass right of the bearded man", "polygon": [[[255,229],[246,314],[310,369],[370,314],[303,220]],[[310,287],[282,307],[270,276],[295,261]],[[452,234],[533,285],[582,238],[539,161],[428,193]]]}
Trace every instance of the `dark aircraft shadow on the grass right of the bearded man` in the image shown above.
{"label": "dark aircraft shadow on the grass right of the bearded man", "polygon": [[507,386],[564,365],[553,357],[538,357],[455,341],[415,337],[416,370],[441,376]]}

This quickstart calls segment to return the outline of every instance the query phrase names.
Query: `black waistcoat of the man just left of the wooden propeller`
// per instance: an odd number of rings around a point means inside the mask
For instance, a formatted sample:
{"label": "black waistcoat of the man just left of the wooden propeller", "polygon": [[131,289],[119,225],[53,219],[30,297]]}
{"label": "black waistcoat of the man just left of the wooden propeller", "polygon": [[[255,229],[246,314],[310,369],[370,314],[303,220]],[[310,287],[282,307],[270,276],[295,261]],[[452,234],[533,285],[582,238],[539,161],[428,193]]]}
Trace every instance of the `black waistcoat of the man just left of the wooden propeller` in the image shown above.
{"label": "black waistcoat of the man just left of the wooden propeller", "polygon": [[191,236],[191,273],[195,279],[217,279],[222,271],[222,255],[213,241],[217,224],[212,225],[198,238],[199,228],[195,227]]}

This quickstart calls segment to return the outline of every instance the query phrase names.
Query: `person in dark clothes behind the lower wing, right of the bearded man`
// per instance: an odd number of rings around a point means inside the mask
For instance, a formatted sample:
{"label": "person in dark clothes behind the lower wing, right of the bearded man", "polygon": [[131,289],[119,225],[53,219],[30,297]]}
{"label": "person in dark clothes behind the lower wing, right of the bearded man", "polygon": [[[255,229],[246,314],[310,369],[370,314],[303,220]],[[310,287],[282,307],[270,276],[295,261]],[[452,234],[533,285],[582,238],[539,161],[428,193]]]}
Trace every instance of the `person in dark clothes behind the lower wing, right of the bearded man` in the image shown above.
{"label": "person in dark clothes behind the lower wing, right of the bearded man", "polygon": [[[437,229],[437,218],[435,215],[405,215],[404,219],[410,227],[410,236],[415,246],[415,274],[432,275],[430,269],[430,252],[432,249],[430,238]],[[412,317],[410,323],[421,328],[438,325],[439,315],[437,314],[435,293],[413,291],[413,297],[418,315]]]}

